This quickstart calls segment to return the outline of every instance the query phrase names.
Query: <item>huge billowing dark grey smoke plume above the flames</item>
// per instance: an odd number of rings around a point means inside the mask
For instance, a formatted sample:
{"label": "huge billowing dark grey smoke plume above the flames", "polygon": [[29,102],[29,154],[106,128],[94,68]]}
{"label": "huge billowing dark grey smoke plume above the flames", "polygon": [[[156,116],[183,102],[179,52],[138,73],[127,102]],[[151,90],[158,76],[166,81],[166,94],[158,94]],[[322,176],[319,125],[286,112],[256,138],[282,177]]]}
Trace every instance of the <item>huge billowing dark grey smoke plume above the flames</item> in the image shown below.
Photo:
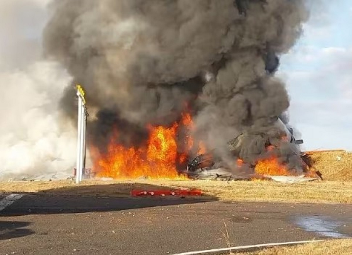
{"label": "huge billowing dark grey smoke plume above the flames", "polygon": [[[249,161],[276,139],[289,97],[273,74],[300,36],[303,0],[57,0],[52,8],[45,52],[86,88],[95,145],[106,147],[114,126],[121,142],[137,144],[147,123],[169,125],[185,102],[196,139],[224,158],[240,133],[254,134],[240,151]],[[72,116],[73,97],[69,88],[62,99]]]}

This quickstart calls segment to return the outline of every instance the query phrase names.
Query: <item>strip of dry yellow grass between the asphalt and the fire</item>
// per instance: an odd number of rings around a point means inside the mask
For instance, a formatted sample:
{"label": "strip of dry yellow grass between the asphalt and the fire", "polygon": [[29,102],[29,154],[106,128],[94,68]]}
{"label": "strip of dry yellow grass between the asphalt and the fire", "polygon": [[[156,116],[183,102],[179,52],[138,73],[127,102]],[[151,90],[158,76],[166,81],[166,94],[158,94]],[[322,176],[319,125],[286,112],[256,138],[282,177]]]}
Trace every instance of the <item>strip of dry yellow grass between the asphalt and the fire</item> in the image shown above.
{"label": "strip of dry yellow grass between the asphalt and the fire", "polygon": [[317,181],[281,184],[274,181],[73,181],[0,183],[0,192],[34,192],[48,195],[130,196],[131,189],[196,188],[208,197],[232,201],[352,203],[352,182]]}

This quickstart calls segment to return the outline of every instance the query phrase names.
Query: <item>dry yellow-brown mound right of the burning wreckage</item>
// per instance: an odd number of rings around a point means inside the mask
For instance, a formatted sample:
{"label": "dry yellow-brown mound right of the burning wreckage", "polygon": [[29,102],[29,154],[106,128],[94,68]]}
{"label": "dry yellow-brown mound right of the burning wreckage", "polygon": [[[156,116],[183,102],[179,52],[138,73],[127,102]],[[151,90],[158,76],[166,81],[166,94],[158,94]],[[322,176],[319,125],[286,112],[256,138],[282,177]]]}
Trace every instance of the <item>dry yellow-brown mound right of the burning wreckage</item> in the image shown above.
{"label": "dry yellow-brown mound right of the burning wreckage", "polygon": [[352,181],[352,152],[344,150],[307,152],[309,163],[325,180]]}

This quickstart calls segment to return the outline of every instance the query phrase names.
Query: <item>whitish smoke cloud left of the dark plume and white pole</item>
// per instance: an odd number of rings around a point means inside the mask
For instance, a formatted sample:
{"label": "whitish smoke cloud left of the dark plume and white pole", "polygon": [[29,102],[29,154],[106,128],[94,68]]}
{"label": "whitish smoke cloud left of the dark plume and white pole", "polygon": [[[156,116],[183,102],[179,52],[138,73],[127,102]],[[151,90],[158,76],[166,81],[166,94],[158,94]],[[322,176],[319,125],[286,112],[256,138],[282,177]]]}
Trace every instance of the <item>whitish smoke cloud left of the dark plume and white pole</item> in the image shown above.
{"label": "whitish smoke cloud left of the dark plume and white pole", "polygon": [[0,179],[74,166],[76,130],[58,109],[71,77],[41,58],[48,3],[0,2]]}

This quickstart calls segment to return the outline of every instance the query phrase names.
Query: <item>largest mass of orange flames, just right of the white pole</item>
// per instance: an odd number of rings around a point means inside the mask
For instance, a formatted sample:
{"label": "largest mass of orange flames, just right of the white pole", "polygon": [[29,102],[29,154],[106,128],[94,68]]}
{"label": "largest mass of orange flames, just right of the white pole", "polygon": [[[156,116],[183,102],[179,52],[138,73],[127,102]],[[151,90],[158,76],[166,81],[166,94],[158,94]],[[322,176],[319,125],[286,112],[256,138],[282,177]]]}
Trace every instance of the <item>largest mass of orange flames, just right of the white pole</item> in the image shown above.
{"label": "largest mass of orange flames, just right of the white pole", "polygon": [[181,125],[188,131],[193,128],[193,120],[189,113],[182,114],[180,124],[175,122],[171,127],[149,126],[149,139],[145,146],[139,148],[126,148],[115,144],[114,140],[118,137],[116,132],[105,155],[101,155],[98,149],[91,148],[97,176],[115,179],[186,178],[177,172],[177,165],[186,161],[187,153],[194,146],[194,141],[187,135],[184,152],[177,152],[176,136]]}

